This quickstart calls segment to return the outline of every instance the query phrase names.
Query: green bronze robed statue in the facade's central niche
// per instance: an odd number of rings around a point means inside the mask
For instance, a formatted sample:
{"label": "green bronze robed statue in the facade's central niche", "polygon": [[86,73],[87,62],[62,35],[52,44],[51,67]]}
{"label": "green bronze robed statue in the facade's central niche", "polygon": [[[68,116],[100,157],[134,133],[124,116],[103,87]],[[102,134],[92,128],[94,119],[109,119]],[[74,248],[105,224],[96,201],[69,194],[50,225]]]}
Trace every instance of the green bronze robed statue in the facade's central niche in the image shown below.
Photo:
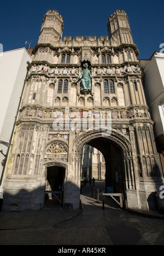
{"label": "green bronze robed statue in the facade's central niche", "polygon": [[80,90],[91,90],[91,72],[88,69],[87,63],[84,64],[84,69],[80,75],[78,75],[78,78],[81,79],[80,83]]}

